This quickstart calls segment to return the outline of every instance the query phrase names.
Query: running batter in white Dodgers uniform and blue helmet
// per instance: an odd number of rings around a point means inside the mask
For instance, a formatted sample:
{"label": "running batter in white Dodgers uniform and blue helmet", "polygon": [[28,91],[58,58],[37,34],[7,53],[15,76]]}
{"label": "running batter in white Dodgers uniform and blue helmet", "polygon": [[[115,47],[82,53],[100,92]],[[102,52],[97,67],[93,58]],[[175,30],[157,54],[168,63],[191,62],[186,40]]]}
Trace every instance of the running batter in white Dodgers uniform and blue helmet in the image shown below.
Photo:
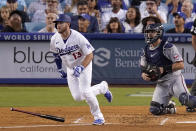
{"label": "running batter in white Dodgers uniform and blue helmet", "polygon": [[[55,56],[57,69],[62,78],[67,77],[74,100],[86,100],[90,106],[90,111],[94,116],[93,124],[103,125],[105,120],[96,95],[104,94],[111,102],[112,93],[106,81],[91,87],[94,48],[82,34],[70,29],[71,18],[68,15],[60,14],[54,23],[58,32],[51,38],[50,51]],[[67,75],[62,69],[62,64],[66,66]]]}

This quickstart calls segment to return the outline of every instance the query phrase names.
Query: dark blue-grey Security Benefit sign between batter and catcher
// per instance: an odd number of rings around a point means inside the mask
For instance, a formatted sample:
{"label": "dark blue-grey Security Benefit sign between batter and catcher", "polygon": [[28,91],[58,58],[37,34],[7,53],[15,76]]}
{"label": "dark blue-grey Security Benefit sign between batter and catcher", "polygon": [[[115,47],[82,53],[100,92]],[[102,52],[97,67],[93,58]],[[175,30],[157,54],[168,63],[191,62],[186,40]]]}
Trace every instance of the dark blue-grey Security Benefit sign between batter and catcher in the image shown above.
{"label": "dark blue-grey Security Benefit sign between batter and catcher", "polygon": [[141,78],[139,59],[144,47],[143,40],[96,40],[92,43],[96,49],[93,79],[105,78],[119,83]]}

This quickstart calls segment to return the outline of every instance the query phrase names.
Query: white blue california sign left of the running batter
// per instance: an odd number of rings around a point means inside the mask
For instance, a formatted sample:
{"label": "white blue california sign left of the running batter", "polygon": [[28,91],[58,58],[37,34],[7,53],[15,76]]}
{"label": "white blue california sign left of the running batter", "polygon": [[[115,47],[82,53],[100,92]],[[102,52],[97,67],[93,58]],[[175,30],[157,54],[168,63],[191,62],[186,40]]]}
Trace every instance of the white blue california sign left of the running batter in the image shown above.
{"label": "white blue california sign left of the running batter", "polygon": [[57,78],[49,42],[3,41],[0,78]]}

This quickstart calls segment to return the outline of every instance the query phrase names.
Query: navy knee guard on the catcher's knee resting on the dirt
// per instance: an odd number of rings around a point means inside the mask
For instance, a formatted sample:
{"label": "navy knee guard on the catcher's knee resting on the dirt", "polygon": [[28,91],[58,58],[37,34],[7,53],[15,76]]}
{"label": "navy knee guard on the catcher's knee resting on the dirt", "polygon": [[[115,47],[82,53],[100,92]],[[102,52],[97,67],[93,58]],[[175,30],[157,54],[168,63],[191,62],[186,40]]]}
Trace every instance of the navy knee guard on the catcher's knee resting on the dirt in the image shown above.
{"label": "navy knee guard on the catcher's knee resting on the dirt", "polygon": [[150,112],[153,114],[153,115],[161,115],[163,114],[163,106],[158,103],[158,102],[155,102],[155,101],[151,101],[150,103]]}

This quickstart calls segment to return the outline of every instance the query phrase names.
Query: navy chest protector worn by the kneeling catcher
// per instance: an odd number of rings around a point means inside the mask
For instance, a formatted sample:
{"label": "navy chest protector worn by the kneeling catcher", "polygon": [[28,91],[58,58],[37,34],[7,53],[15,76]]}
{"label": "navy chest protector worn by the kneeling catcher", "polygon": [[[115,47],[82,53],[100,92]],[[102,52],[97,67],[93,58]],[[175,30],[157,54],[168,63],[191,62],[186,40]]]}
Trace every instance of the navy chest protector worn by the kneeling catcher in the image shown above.
{"label": "navy chest protector worn by the kneeling catcher", "polygon": [[158,67],[163,67],[165,65],[172,64],[172,61],[167,59],[165,55],[163,54],[164,44],[165,44],[165,41],[162,41],[159,47],[153,50],[150,50],[150,45],[147,45],[145,47],[145,56],[146,56],[146,61],[148,64],[156,65]]}

